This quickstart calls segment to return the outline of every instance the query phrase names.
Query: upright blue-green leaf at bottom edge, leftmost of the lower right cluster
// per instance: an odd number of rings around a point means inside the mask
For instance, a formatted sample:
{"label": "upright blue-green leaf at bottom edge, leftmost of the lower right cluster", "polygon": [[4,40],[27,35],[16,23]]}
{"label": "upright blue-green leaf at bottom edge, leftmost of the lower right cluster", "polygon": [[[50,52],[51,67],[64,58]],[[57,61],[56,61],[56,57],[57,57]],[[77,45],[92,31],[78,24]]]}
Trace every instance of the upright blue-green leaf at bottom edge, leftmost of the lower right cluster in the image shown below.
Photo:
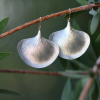
{"label": "upright blue-green leaf at bottom edge, leftmost of the lower right cluster", "polygon": [[71,95],[71,82],[70,79],[68,79],[63,89],[61,100],[70,100],[71,98],[70,95]]}

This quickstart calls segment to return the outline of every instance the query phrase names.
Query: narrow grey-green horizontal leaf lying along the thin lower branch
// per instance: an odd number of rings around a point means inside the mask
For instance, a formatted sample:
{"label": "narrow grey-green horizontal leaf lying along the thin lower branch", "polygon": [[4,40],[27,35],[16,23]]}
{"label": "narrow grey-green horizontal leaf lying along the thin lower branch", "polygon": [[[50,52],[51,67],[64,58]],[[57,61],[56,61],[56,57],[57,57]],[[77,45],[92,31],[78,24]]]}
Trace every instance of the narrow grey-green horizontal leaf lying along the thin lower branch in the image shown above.
{"label": "narrow grey-green horizontal leaf lying along the thin lower branch", "polygon": [[84,78],[84,77],[87,77],[88,76],[88,75],[80,75],[80,74],[67,73],[67,72],[59,72],[59,73],[61,75],[65,76],[65,77],[75,78],[75,79]]}

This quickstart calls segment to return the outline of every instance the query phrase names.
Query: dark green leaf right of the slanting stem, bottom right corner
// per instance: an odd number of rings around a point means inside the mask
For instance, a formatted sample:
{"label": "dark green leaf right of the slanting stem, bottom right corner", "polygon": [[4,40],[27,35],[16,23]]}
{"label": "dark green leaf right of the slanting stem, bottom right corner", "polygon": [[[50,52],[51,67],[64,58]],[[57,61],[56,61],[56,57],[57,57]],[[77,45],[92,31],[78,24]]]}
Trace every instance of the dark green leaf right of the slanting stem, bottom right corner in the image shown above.
{"label": "dark green leaf right of the slanting stem, bottom right corner", "polygon": [[100,91],[99,91],[99,84],[97,83],[96,80],[94,80],[94,82],[90,88],[89,94],[90,94],[91,100],[98,100]]}

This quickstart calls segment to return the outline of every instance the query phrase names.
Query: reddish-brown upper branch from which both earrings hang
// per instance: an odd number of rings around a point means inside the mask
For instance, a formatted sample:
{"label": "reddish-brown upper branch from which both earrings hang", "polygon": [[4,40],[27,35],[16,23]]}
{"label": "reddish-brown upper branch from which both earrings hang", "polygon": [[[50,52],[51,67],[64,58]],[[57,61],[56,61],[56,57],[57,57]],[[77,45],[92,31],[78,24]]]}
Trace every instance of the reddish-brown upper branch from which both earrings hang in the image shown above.
{"label": "reddish-brown upper branch from which both earrings hang", "polygon": [[[76,7],[76,8],[72,8],[70,9],[71,10],[71,13],[75,13],[75,12],[79,12],[79,11],[83,11],[83,10],[88,10],[88,9],[91,9],[93,7],[99,7],[100,6],[100,3],[98,4],[89,4],[89,5],[84,5],[84,6],[80,6],[80,7]],[[60,11],[60,12],[57,12],[57,13],[53,13],[53,14],[50,14],[50,15],[47,15],[47,16],[44,16],[44,17],[41,17],[42,18],[42,21],[45,21],[45,20],[48,20],[48,19],[51,19],[51,18],[55,18],[55,17],[58,17],[58,16],[62,16],[64,14],[70,14],[70,10],[64,10],[64,11]],[[5,36],[7,35],[10,35],[16,31],[19,31],[21,29],[24,29],[30,25],[34,25],[36,23],[39,23],[41,21],[40,18],[36,19],[36,20],[33,20],[33,21],[30,21],[28,23],[25,23],[21,26],[18,26],[14,29],[11,29],[10,31],[7,31],[3,34],[0,35],[0,39],[1,38],[4,38]]]}

